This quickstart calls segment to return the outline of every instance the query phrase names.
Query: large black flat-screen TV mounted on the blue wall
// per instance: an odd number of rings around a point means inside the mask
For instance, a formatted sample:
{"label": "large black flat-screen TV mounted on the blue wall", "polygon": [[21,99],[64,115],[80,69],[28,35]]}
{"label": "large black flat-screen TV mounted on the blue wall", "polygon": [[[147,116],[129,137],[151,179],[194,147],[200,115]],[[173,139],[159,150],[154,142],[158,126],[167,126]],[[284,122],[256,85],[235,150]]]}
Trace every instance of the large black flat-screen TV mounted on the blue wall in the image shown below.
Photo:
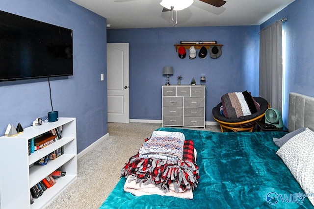
{"label": "large black flat-screen TV mounted on the blue wall", "polygon": [[0,11],[0,81],[73,75],[72,30]]}

